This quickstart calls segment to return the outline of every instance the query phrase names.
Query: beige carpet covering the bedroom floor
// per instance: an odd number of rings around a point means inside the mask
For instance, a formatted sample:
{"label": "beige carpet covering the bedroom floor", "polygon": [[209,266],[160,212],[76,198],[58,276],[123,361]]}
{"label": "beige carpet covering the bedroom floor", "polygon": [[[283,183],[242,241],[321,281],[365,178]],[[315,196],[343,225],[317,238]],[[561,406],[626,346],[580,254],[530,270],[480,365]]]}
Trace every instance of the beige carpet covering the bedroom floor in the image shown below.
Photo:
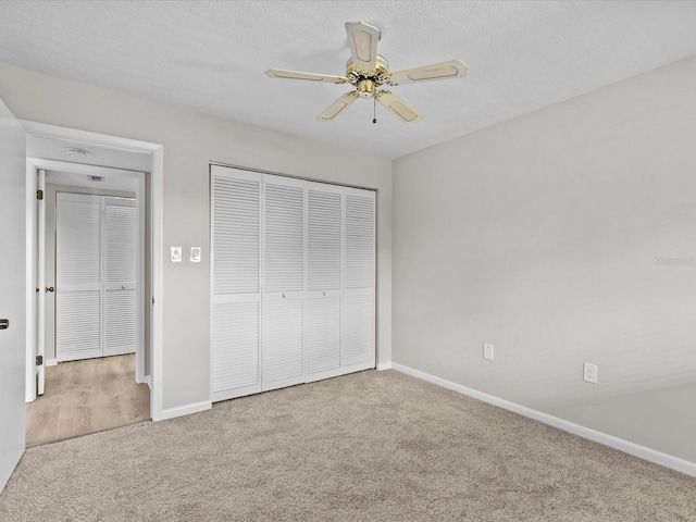
{"label": "beige carpet covering the bedroom floor", "polygon": [[395,371],[30,448],[2,521],[696,521],[696,478]]}

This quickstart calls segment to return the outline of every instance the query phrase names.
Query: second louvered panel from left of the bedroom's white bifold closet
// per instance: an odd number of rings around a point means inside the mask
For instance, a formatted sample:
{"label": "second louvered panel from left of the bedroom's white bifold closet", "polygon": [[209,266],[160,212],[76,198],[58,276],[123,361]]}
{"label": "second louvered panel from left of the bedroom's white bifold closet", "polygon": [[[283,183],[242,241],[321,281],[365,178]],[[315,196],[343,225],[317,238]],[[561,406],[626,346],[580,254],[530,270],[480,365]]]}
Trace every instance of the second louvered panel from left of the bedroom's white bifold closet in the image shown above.
{"label": "second louvered panel from left of the bedroom's white bifold closet", "polygon": [[304,182],[264,175],[262,388],[304,382]]}

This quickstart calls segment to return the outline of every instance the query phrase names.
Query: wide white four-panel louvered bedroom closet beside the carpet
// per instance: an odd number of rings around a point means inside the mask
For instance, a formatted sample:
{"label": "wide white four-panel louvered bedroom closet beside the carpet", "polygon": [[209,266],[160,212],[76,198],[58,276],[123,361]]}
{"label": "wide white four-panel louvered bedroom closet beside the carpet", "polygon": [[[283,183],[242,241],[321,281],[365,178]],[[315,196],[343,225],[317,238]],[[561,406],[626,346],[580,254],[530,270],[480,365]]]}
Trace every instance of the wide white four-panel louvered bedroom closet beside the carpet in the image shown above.
{"label": "wide white four-panel louvered bedroom closet beside the carpet", "polygon": [[375,364],[375,192],[211,165],[211,396]]}

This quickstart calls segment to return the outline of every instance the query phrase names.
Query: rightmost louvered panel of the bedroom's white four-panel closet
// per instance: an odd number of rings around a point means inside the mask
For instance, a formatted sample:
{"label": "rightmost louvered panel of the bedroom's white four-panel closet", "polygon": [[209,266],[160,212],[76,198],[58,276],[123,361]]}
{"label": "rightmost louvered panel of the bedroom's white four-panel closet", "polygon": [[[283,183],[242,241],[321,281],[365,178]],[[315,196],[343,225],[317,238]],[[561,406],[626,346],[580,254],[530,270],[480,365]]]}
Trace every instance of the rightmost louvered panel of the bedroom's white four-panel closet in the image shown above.
{"label": "rightmost louvered panel of the bedroom's white four-panel closet", "polygon": [[344,373],[375,365],[375,196],[345,189]]}

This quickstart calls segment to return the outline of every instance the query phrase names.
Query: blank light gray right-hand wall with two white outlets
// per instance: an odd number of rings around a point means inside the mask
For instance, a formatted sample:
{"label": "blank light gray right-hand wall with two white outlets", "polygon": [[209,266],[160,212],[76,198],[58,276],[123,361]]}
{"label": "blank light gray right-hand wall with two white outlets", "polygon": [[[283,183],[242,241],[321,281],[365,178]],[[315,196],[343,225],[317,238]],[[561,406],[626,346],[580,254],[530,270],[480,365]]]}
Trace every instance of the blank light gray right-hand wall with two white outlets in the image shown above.
{"label": "blank light gray right-hand wall with two white outlets", "polygon": [[395,362],[696,462],[696,59],[403,157],[394,201]]}

